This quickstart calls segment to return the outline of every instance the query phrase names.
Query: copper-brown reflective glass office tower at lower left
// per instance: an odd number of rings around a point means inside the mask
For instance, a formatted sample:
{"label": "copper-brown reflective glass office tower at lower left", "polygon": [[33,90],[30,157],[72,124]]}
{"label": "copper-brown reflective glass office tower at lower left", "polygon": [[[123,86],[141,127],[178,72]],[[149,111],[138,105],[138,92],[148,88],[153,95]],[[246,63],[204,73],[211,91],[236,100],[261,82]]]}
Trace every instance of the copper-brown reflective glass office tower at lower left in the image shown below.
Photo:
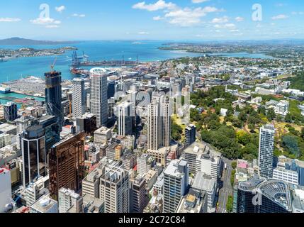
{"label": "copper-brown reflective glass office tower at lower left", "polygon": [[50,195],[62,187],[78,192],[84,178],[84,133],[62,140],[50,149]]}

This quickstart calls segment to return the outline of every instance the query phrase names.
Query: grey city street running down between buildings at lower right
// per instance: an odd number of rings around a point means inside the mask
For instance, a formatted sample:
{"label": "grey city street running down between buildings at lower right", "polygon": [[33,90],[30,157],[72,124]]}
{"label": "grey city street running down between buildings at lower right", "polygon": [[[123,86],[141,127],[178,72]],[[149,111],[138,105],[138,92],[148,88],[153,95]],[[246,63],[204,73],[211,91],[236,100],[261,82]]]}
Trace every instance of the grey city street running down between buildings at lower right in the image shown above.
{"label": "grey city street running down between buildings at lower right", "polygon": [[220,189],[218,197],[218,213],[225,213],[228,197],[233,194],[233,188],[230,182],[232,174],[232,161],[223,158],[223,162],[227,163],[227,170],[223,170],[223,176],[221,179],[223,187]]}

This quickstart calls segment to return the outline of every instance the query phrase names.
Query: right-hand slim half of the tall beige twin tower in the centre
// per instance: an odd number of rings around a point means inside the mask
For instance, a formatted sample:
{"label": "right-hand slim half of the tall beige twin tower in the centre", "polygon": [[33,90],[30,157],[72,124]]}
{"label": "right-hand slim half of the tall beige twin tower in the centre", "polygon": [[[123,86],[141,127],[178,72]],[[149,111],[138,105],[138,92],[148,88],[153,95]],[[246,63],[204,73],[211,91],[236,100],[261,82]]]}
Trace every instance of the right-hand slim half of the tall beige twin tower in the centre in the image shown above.
{"label": "right-hand slim half of the tall beige twin tower in the centre", "polygon": [[171,144],[171,100],[168,96],[163,96],[162,98],[162,145],[169,147]]}

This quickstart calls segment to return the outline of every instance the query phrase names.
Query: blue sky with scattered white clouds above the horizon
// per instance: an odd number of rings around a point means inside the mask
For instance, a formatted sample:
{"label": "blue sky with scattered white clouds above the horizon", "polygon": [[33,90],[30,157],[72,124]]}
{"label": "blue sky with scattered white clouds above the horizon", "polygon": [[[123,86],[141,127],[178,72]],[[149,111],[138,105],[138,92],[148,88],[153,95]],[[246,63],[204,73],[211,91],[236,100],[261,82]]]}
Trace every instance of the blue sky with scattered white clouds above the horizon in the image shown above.
{"label": "blue sky with scattered white clouds above the horizon", "polygon": [[[40,17],[40,4],[50,14]],[[261,20],[253,21],[254,4]],[[258,6],[258,7],[260,7]],[[255,8],[260,9],[260,8]],[[259,11],[260,12],[260,11]],[[254,18],[260,14],[254,14]],[[259,40],[304,38],[302,0],[0,1],[0,38]]]}

